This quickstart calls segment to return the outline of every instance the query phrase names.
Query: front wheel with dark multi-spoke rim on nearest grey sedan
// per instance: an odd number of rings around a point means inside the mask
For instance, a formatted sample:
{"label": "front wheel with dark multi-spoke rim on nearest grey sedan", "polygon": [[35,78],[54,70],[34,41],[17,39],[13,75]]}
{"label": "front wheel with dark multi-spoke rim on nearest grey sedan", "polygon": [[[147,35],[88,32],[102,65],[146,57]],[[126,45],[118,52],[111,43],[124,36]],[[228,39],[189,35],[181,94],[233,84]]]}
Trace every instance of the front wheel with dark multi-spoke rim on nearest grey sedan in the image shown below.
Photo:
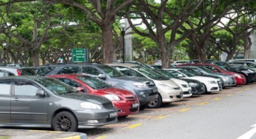
{"label": "front wheel with dark multi-spoke rim on nearest grey sedan", "polygon": [[76,132],[78,122],[71,112],[59,112],[53,118],[53,129],[60,132]]}

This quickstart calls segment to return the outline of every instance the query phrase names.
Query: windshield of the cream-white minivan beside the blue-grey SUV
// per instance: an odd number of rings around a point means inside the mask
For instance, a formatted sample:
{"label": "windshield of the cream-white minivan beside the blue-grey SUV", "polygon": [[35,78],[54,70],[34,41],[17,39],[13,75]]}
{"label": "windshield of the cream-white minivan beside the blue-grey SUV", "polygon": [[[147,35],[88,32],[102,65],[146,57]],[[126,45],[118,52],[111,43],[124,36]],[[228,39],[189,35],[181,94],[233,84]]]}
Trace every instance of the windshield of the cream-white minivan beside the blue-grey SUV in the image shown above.
{"label": "windshield of the cream-white minivan beside the blue-grey SUV", "polygon": [[159,72],[155,72],[153,69],[148,69],[140,66],[132,67],[132,69],[142,72],[144,75],[154,80],[169,80],[169,78],[167,78],[165,75],[162,75]]}

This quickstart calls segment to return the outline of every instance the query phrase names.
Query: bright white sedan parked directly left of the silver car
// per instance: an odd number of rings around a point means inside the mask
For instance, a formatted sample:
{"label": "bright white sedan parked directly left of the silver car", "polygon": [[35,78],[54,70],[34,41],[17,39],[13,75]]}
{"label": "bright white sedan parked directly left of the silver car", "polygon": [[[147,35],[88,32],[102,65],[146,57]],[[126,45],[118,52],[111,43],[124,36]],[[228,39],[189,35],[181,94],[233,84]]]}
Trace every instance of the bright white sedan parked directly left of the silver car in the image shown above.
{"label": "bright white sedan parked directly left of the silver car", "polygon": [[216,78],[193,76],[189,74],[189,72],[186,72],[186,70],[184,69],[165,69],[165,70],[171,72],[173,75],[176,75],[178,78],[190,78],[190,79],[201,81],[203,83],[203,86],[206,88],[205,93],[217,92],[217,91],[220,91],[220,89],[222,88],[220,80]]}

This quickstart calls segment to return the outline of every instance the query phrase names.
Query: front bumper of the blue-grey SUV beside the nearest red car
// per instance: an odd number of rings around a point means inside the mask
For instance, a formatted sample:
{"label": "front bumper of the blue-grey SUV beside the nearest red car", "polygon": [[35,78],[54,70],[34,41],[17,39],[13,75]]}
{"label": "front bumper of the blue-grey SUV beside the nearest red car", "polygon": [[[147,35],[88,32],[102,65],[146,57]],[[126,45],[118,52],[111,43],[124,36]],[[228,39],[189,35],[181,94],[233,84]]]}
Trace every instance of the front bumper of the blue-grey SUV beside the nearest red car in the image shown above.
{"label": "front bumper of the blue-grey SUV beside the nearest red car", "polygon": [[155,100],[158,98],[158,88],[149,88],[149,89],[135,89],[138,100],[140,101],[140,106],[147,104],[149,101]]}

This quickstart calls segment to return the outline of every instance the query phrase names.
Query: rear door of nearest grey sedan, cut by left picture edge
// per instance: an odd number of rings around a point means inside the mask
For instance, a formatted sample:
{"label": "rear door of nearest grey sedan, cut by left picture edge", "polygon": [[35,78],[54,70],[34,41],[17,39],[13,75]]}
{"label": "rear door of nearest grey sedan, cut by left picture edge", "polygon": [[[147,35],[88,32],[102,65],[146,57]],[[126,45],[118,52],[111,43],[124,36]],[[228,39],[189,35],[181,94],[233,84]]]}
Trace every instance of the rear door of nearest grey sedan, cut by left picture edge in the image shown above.
{"label": "rear door of nearest grey sedan, cut by left picture edge", "polygon": [[0,81],[0,123],[10,123],[11,80]]}

